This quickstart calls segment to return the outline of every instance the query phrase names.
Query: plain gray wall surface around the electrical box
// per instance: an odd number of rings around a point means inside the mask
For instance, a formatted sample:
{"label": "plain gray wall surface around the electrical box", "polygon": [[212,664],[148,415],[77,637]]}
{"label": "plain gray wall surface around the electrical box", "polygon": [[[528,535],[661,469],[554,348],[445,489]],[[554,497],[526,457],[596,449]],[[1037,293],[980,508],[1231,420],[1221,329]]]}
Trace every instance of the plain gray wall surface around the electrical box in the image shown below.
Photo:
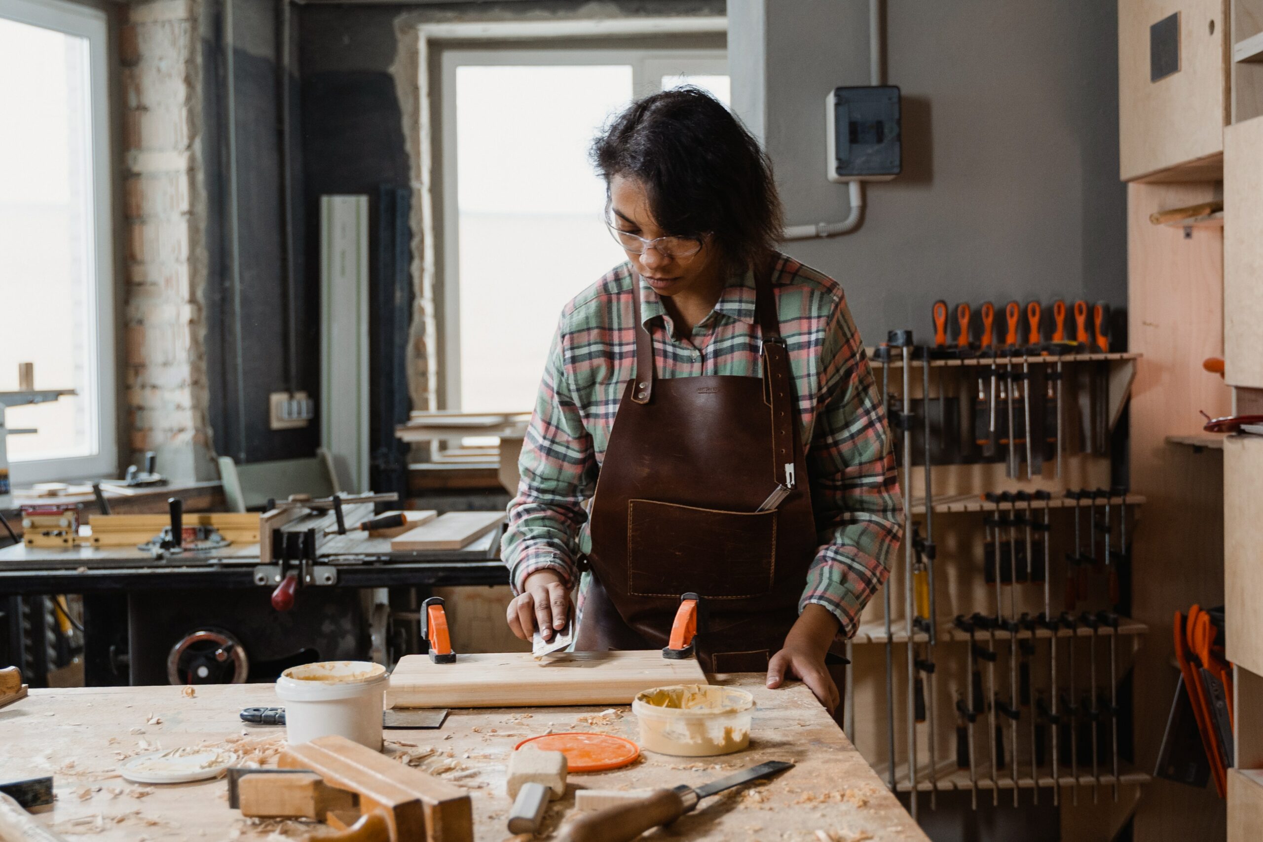
{"label": "plain gray wall surface around the electrical box", "polygon": [[[791,225],[846,216],[846,186],[823,175],[823,101],[869,83],[868,5],[729,0],[734,105],[765,139]],[[885,30],[904,174],[869,186],[858,232],[784,250],[845,287],[868,345],[926,337],[938,298],[1124,307],[1114,4],[889,0]]]}

